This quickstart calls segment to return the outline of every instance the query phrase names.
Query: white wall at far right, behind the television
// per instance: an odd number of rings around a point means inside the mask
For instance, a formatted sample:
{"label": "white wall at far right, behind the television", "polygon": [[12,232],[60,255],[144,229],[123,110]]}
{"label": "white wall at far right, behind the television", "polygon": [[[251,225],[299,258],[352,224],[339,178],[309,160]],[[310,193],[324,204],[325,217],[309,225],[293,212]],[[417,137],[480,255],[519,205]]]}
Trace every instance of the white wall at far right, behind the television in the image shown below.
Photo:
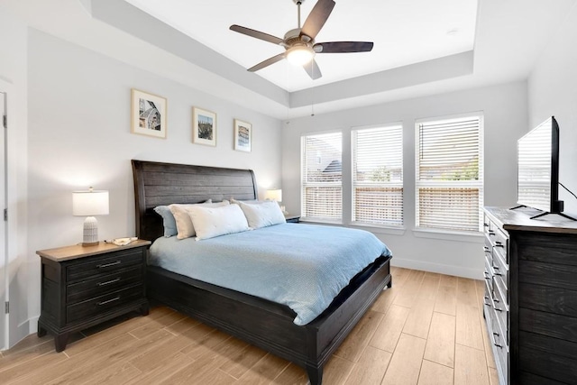
{"label": "white wall at far right, behind the television", "polygon": [[[577,5],[537,61],[528,79],[529,126],[554,115],[561,139],[559,180],[577,194]],[[577,217],[577,199],[563,188],[565,213]]]}

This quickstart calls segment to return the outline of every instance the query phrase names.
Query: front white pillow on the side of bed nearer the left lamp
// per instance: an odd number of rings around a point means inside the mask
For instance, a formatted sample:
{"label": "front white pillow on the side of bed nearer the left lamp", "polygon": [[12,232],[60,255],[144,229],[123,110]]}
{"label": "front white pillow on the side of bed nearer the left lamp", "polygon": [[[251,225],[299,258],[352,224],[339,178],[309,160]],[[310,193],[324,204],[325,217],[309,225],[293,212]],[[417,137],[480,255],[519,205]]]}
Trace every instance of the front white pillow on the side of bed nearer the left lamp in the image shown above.
{"label": "front white pillow on the side of bed nearer the left lamp", "polygon": [[238,205],[193,206],[188,208],[188,215],[197,231],[197,241],[250,230],[243,210]]}

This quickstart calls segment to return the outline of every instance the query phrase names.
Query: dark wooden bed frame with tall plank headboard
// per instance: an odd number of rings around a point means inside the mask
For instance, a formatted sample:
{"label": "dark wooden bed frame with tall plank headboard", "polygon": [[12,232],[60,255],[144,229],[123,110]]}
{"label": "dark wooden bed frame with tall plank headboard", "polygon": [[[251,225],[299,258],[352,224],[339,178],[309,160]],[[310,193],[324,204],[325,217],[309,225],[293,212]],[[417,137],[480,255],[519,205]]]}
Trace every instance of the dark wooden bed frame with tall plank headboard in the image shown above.
{"label": "dark wooden bed frame with tall plank headboard", "polygon": [[[136,235],[155,240],[163,234],[153,208],[171,203],[199,203],[208,198],[256,199],[252,170],[133,160]],[[289,307],[224,289],[149,266],[147,295],[206,325],[276,354],[307,370],[312,385],[322,383],[323,366],[379,296],[391,286],[390,257],[381,256],[357,274],[323,314],[295,325]]]}

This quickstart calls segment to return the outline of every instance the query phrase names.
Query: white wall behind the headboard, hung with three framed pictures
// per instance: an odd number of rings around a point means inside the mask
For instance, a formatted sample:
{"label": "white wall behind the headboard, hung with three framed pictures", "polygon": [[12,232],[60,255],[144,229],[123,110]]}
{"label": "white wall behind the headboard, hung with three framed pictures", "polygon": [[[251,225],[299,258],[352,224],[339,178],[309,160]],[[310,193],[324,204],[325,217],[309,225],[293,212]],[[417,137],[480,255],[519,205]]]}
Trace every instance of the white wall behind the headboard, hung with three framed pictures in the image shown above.
{"label": "white wall behind the headboard, hung with three framed pictures", "polygon": [[[252,169],[261,195],[280,184],[280,122],[160,78],[43,32],[30,31],[28,251],[29,302],[40,312],[39,249],[78,243],[83,217],[72,216],[71,191],[110,191],[99,237],[134,235],[131,159]],[[131,88],[168,99],[166,140],[130,132]],[[216,113],[216,147],[193,144],[192,106]],[[233,150],[233,120],[252,123],[252,152]]]}

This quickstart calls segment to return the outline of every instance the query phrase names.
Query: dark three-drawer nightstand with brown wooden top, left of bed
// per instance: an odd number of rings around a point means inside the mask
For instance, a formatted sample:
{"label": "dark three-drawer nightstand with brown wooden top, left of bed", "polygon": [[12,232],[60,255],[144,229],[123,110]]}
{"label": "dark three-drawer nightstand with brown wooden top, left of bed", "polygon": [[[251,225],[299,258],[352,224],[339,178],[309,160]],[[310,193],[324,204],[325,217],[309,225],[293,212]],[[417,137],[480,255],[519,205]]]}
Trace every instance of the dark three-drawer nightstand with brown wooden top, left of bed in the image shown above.
{"label": "dark three-drawer nightstand with brown wooden top, left of bed", "polygon": [[70,333],[133,310],[148,315],[145,278],[150,244],[101,242],[36,252],[42,263],[38,336],[50,332],[56,352],[61,352]]}

